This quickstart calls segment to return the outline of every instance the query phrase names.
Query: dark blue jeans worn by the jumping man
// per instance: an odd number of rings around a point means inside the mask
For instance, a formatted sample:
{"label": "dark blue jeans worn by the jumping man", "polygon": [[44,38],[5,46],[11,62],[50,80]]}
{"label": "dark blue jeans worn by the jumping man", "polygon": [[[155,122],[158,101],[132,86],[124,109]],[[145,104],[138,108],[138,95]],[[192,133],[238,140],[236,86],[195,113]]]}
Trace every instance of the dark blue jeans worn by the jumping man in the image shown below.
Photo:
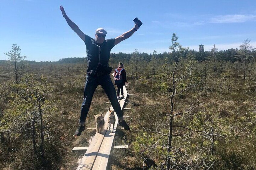
{"label": "dark blue jeans worn by the jumping man", "polygon": [[117,116],[119,118],[123,116],[123,112],[121,110],[120,104],[118,103],[118,100],[116,97],[116,90],[113,85],[113,82],[111,81],[110,76],[103,75],[103,76],[93,77],[93,76],[87,75],[85,80],[84,101],[81,107],[81,115],[80,115],[79,122],[85,122],[85,119],[88,115],[88,111],[91,105],[92,96],[98,85],[101,85],[101,87],[106,92],[111,105],[113,106],[115,112],[117,113]]}

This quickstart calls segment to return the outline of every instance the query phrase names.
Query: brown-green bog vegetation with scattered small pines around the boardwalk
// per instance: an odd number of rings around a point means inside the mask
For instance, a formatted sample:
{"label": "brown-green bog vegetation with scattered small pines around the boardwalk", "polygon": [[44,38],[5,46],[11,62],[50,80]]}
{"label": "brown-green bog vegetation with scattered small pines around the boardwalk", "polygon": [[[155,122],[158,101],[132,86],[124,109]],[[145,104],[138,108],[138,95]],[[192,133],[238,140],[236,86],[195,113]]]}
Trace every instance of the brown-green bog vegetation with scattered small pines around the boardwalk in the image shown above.
{"label": "brown-green bog vegetation with scattered small pines around the boardwalk", "polygon": [[[7,49],[8,51],[8,49]],[[95,131],[73,138],[80,114],[86,58],[26,61],[13,44],[0,61],[0,169],[75,169]],[[256,169],[256,51],[194,51],[173,34],[170,52],[111,54],[124,63],[131,131],[117,130],[109,169]],[[86,120],[105,113],[99,86]]]}

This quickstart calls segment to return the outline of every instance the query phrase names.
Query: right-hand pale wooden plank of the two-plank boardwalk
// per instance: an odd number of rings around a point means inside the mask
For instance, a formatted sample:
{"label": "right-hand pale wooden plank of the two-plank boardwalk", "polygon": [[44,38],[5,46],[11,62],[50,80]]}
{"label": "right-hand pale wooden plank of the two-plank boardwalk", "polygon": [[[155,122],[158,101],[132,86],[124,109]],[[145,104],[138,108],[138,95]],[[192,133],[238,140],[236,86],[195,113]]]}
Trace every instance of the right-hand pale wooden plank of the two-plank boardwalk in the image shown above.
{"label": "right-hand pale wooden plank of the two-plank boardwalk", "polygon": [[[121,109],[123,109],[124,103],[125,103],[125,100],[126,100],[126,97],[127,97],[126,88],[123,89],[123,94],[124,94],[124,98],[119,101]],[[114,113],[114,114],[117,118],[116,113]],[[99,169],[104,170],[104,169],[107,168],[107,163],[108,163],[108,159],[109,159],[109,156],[110,156],[111,148],[113,146],[113,141],[114,141],[114,137],[115,137],[117,124],[118,124],[118,121],[115,122],[115,128],[114,128],[113,133],[111,133],[109,131],[106,132],[105,138],[103,139],[101,148],[98,152],[98,156],[97,156],[97,158],[94,162],[92,170],[99,170]]]}

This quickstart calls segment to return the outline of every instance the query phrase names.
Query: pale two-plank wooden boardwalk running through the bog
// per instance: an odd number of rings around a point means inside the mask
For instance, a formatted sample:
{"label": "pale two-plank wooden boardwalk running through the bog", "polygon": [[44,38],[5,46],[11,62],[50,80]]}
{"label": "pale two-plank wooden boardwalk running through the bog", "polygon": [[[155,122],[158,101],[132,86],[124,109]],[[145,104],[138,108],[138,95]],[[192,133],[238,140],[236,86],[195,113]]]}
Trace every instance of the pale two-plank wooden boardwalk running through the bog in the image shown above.
{"label": "pale two-plank wooden boardwalk running through the bog", "polygon": [[[123,93],[124,98],[119,101],[122,110],[128,95],[125,86],[123,86]],[[114,110],[112,106],[110,107],[110,110]],[[79,162],[77,170],[104,170],[107,168],[107,163],[111,149],[113,148],[114,137],[118,124],[117,114],[114,114],[116,116],[116,122],[113,133],[108,131],[109,111],[107,111],[107,113],[104,116],[104,131],[102,132],[102,134],[96,133],[94,135],[94,137],[91,140],[90,146],[86,147],[87,150],[85,152],[85,155]]]}

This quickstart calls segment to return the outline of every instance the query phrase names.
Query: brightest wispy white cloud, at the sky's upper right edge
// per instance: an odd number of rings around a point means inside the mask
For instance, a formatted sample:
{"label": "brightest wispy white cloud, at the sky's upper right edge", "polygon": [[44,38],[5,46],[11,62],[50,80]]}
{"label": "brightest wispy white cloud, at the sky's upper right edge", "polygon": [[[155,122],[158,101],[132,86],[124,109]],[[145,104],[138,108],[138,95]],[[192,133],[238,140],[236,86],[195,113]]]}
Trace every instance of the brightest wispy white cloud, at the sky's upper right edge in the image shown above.
{"label": "brightest wispy white cloud, at the sky's upper right edge", "polygon": [[219,15],[211,18],[209,23],[243,23],[255,19],[256,15]]}

